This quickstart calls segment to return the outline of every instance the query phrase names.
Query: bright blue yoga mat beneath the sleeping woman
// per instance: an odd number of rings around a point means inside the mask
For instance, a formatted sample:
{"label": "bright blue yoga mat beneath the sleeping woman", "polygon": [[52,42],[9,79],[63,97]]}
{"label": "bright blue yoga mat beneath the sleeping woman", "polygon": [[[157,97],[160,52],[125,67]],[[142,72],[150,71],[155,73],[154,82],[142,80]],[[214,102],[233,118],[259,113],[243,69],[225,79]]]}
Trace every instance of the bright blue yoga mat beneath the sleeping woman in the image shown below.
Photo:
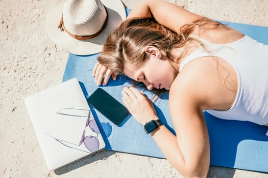
{"label": "bright blue yoga mat beneath the sleeping woman", "polygon": [[[222,23],[268,44],[268,27]],[[62,81],[78,78],[86,98],[98,88],[92,77],[97,56],[98,54],[87,56],[69,54],[66,64]],[[130,85],[127,77],[120,76],[115,81],[110,79],[106,86],[100,87],[122,103],[121,91],[123,87]],[[151,99],[155,96],[150,91],[144,93]],[[168,94],[164,94],[154,104],[162,123],[175,133],[168,111]],[[164,158],[152,137],[145,134],[143,127],[133,117],[117,127],[101,113],[91,109],[105,139],[107,150]],[[204,116],[209,132],[211,165],[268,172],[268,136],[265,135],[268,127],[250,122],[221,120],[207,112],[204,112]]]}

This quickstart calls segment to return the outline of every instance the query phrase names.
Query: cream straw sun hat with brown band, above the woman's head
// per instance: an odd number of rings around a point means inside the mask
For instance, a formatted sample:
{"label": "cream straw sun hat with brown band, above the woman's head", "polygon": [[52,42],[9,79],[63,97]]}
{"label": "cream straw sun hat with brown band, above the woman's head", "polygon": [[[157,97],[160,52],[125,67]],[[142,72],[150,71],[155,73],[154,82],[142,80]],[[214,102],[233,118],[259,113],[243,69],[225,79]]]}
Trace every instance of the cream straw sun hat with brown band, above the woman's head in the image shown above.
{"label": "cream straw sun hat with brown band, above the woman's head", "polygon": [[57,0],[47,14],[48,36],[77,55],[101,52],[107,36],[126,19],[120,0]]}

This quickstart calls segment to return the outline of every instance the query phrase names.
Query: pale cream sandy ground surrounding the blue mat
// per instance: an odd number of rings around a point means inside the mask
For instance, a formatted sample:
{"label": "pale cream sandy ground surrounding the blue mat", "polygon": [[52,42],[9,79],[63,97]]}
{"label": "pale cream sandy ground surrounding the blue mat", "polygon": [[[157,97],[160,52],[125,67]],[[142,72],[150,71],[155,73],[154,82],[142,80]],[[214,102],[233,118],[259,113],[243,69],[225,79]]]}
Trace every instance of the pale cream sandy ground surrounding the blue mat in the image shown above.
{"label": "pale cream sandy ground surrounding the blue mat", "polygon": [[[47,170],[23,100],[60,83],[64,73],[68,53],[48,38],[44,28],[46,12],[53,2],[0,1],[0,177],[180,177],[164,159],[111,151],[57,171]],[[123,2],[133,8],[138,1]],[[267,0],[172,2],[217,20],[268,26]],[[267,177],[268,174],[211,166],[208,176]]]}

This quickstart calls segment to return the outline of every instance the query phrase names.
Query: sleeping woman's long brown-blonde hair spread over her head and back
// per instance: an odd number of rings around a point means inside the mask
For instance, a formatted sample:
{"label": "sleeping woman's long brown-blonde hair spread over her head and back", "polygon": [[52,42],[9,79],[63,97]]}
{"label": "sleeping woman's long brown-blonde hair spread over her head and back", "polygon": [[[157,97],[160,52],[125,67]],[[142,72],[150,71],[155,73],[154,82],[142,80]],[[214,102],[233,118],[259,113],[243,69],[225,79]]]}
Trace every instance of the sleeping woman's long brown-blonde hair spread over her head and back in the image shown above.
{"label": "sleeping woman's long brown-blonde hair spread over her head and back", "polygon": [[[186,24],[181,27],[177,34],[169,28],[159,24],[153,18],[130,18],[125,20],[111,33],[103,46],[101,54],[98,56],[100,64],[108,67],[115,74],[124,74],[124,64],[128,61],[133,66],[139,66],[146,60],[145,47],[151,45],[158,48],[167,60],[178,62],[187,52],[189,42],[203,44],[189,37],[196,25],[215,23],[207,18]],[[182,54],[174,58],[172,50],[174,48],[185,47]]]}

